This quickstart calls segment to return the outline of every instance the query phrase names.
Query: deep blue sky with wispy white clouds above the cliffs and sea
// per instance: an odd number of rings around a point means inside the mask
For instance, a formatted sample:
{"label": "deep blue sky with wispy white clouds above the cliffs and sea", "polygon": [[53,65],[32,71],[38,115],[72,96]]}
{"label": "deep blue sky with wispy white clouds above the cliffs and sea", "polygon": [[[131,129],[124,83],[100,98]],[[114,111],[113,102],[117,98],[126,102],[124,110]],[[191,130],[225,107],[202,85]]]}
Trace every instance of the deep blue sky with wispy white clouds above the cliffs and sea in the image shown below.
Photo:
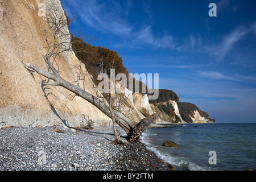
{"label": "deep blue sky with wispy white clouds above the cliffs and sea", "polygon": [[130,73],[159,73],[160,89],[216,122],[256,122],[256,1],[61,2],[71,31],[96,35],[88,43],[118,51]]}

